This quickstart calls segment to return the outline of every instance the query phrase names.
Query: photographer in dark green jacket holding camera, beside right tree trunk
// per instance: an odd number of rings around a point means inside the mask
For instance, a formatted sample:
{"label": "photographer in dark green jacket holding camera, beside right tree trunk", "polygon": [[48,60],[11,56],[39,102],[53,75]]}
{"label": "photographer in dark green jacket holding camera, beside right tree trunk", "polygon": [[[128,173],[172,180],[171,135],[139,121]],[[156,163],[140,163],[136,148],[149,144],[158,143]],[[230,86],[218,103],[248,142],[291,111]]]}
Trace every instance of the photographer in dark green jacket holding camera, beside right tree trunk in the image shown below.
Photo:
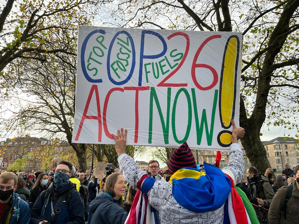
{"label": "photographer in dark green jacket holding camera, beside right tree trunk", "polygon": [[274,191],[268,178],[259,174],[257,168],[250,166],[246,170],[248,179],[247,197],[254,207],[260,223],[268,222],[268,209],[270,207]]}

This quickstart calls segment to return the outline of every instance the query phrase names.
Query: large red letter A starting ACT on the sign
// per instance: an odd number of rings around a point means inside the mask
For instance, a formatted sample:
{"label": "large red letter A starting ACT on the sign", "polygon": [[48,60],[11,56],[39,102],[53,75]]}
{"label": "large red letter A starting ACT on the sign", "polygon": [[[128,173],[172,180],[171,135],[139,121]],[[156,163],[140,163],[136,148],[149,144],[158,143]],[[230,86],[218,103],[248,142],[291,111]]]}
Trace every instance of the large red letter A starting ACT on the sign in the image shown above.
{"label": "large red letter A starting ACT on the sign", "polygon": [[[96,102],[97,102],[97,116],[89,116],[89,115],[87,115],[87,111],[88,111],[88,108],[89,108],[91,97],[92,97],[94,92],[95,92],[95,98],[96,98]],[[91,89],[90,89],[90,92],[89,92],[89,95],[88,95],[88,98],[87,98],[87,101],[86,101],[86,105],[85,105],[85,108],[84,108],[84,111],[83,111],[83,115],[82,115],[82,118],[81,118],[81,121],[80,121],[80,125],[79,125],[78,131],[77,131],[77,135],[76,135],[76,138],[75,138],[76,141],[78,141],[78,139],[79,139],[79,136],[80,136],[82,126],[83,126],[83,123],[84,123],[85,119],[98,120],[98,125],[99,125],[98,141],[101,142],[102,141],[102,118],[101,118],[101,108],[100,108],[100,97],[99,97],[99,91],[97,89],[97,85],[92,85],[91,86]]]}

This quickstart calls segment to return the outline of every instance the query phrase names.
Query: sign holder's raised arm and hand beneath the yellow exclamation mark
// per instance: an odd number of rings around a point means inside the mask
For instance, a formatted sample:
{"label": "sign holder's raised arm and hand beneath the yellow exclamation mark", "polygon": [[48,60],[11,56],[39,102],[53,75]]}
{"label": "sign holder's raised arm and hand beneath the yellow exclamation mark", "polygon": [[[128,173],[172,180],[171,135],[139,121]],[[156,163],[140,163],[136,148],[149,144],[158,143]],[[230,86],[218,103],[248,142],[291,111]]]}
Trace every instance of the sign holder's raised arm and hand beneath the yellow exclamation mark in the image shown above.
{"label": "sign holder's raised arm and hand beneath the yellow exclamation mark", "polygon": [[228,174],[233,180],[234,184],[240,183],[244,172],[244,157],[241,146],[237,143],[238,139],[244,136],[244,128],[237,128],[234,120],[231,120],[233,125],[232,144],[229,151],[228,165],[222,169],[225,174]]}

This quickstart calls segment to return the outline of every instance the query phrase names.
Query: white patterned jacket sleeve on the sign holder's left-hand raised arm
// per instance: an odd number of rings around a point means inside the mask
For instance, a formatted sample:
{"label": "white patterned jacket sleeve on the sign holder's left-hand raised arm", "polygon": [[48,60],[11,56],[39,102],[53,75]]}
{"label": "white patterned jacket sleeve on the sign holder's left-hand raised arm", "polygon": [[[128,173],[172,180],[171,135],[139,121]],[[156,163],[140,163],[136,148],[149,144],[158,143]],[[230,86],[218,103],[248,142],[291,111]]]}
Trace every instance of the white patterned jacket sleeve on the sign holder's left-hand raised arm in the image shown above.
{"label": "white patterned jacket sleeve on the sign holder's left-hand raised arm", "polygon": [[136,185],[138,181],[144,174],[147,174],[147,172],[139,169],[134,159],[132,159],[132,157],[128,156],[127,154],[121,154],[118,157],[118,163],[120,171],[123,173],[123,177],[126,182],[137,189]]}

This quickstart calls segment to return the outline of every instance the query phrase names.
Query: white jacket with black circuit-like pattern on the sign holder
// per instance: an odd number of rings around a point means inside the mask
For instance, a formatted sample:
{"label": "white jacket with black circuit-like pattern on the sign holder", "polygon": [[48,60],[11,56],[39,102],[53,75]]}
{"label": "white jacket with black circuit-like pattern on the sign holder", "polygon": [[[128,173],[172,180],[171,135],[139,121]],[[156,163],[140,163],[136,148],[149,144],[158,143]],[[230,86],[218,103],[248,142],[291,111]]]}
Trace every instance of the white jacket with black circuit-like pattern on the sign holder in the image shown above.
{"label": "white jacket with black circuit-like pattern on the sign holder", "polygon": [[[146,171],[139,169],[134,159],[126,154],[120,155],[118,157],[118,162],[125,180],[136,188],[141,177],[144,174],[147,174]],[[231,144],[229,162],[222,171],[234,180],[234,184],[241,182],[244,171],[244,157],[239,144]],[[174,199],[171,183],[156,181],[147,195],[150,205],[159,212],[160,224],[223,223],[224,205],[214,211],[204,213],[189,211],[179,205]]]}

